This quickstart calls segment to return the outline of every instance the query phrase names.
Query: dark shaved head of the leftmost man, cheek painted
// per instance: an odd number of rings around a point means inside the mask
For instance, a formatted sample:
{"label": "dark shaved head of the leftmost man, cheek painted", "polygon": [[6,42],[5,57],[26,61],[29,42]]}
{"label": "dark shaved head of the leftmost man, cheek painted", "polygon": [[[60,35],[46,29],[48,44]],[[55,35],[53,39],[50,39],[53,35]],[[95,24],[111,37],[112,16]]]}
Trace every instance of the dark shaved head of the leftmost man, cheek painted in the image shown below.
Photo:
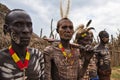
{"label": "dark shaved head of the leftmost man, cheek painted", "polygon": [[32,35],[32,21],[22,9],[11,10],[5,16],[4,33],[9,33],[12,43],[28,46]]}

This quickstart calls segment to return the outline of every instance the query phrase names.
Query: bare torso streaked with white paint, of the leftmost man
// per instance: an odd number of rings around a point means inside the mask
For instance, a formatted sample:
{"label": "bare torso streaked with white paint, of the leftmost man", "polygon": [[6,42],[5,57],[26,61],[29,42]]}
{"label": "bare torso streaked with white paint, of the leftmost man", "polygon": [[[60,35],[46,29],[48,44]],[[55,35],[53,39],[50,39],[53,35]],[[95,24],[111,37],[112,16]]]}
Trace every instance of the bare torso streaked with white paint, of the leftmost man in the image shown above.
{"label": "bare torso streaked with white paint, of the leftmost man", "polygon": [[[26,80],[44,80],[44,59],[38,49],[29,48],[30,61],[25,71]],[[0,51],[0,80],[23,80],[21,71],[9,54],[9,49]]]}

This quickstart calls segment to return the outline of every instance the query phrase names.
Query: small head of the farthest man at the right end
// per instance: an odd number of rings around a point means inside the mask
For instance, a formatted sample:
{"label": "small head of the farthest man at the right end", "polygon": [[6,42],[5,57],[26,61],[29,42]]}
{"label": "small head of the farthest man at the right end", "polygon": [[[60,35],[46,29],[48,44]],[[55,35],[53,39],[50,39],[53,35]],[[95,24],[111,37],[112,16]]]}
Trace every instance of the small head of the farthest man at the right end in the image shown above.
{"label": "small head of the farthest man at the right end", "polygon": [[99,38],[100,38],[100,41],[103,42],[104,44],[108,43],[109,42],[109,34],[107,31],[100,31],[99,32]]}

